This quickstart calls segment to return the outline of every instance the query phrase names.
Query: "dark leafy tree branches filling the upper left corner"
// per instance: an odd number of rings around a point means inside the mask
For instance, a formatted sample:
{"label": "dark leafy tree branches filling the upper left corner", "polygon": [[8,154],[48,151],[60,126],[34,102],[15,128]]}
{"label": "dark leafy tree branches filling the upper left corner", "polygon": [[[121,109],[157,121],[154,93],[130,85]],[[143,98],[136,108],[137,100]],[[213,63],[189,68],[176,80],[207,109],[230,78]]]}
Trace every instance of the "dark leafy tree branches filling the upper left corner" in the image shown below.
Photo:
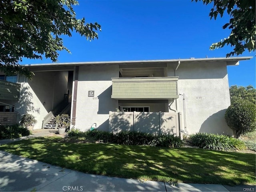
{"label": "dark leafy tree branches filling the upper left corner", "polygon": [[98,38],[98,23],[76,19],[72,8],[76,0],[1,0],[0,1],[0,70],[7,74],[32,73],[18,64],[22,58],[57,61],[58,51],[68,50],[61,36],[74,30],[88,40]]}

